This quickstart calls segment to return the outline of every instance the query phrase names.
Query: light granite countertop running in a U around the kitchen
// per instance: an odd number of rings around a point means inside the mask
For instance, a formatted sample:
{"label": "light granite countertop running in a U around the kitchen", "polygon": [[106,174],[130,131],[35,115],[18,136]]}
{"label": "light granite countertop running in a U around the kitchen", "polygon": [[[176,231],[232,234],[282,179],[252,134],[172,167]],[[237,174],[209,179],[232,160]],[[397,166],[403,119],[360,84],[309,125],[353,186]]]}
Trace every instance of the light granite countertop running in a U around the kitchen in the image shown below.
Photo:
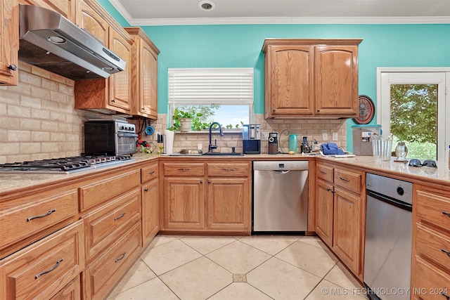
{"label": "light granite countertop running in a U around the kitchen", "polygon": [[[152,160],[152,159],[179,159],[180,156],[169,156],[169,155],[141,155],[136,154],[133,156],[134,160],[131,162],[124,162],[120,164],[120,167],[129,166],[132,164],[137,164],[139,162]],[[205,156],[189,156],[189,158],[196,160],[202,159],[318,159],[324,162],[336,162],[339,164],[345,164],[349,167],[357,167],[361,170],[368,172],[378,172],[386,176],[392,175],[397,178],[404,178],[408,181],[428,181],[437,184],[450,185],[450,171],[449,167],[444,163],[437,162],[437,168],[432,167],[409,167],[408,164],[404,162],[394,162],[394,157],[389,162],[377,162],[371,156],[355,156],[347,158],[335,158],[335,157],[322,157],[322,156],[312,156],[312,155],[243,155],[243,156],[226,156],[226,157],[205,157]],[[100,169],[90,169],[86,171],[77,171],[72,174],[0,174],[0,197],[2,194],[11,193],[12,190],[17,188],[33,188],[37,185],[56,183],[64,181],[68,178],[75,179],[86,176],[86,174],[93,174],[94,172],[99,172],[107,169],[112,169],[118,167],[117,165],[111,167],[102,167]]]}

